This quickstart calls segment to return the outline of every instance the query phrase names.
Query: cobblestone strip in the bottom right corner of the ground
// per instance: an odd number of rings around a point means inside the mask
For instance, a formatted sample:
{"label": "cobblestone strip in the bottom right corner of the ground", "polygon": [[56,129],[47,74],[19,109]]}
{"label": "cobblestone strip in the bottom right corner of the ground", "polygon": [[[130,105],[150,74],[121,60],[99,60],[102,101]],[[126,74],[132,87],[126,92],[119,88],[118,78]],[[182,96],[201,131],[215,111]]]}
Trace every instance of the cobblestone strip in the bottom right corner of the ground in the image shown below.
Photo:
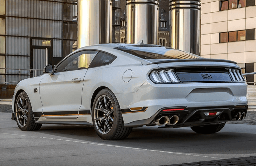
{"label": "cobblestone strip in the bottom right corner of the ground", "polygon": [[214,161],[202,161],[185,164],[174,164],[166,166],[256,166],[256,156],[239,157]]}

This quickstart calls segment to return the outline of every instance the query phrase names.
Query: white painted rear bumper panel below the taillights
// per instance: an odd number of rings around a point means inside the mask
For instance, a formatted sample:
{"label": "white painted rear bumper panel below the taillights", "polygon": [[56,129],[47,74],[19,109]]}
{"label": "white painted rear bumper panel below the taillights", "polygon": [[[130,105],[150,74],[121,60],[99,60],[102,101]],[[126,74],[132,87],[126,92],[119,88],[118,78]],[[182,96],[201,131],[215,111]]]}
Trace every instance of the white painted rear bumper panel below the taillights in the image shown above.
{"label": "white painted rear bumper panel below the taillights", "polygon": [[246,83],[154,84],[147,80],[134,93],[115,94],[122,110],[147,107],[144,112],[123,113],[124,124],[156,116],[162,108],[218,108],[247,105]]}

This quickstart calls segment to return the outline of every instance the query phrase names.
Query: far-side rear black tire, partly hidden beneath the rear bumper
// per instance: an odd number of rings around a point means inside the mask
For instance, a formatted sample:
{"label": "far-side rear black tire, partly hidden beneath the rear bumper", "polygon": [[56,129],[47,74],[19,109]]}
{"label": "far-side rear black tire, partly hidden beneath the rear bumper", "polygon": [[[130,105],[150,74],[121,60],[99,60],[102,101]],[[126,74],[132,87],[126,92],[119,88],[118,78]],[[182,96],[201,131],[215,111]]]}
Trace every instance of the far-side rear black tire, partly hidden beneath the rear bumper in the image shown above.
{"label": "far-side rear black tire, partly hidden beneath the rear bumper", "polygon": [[215,132],[219,132],[225,126],[225,124],[226,124],[226,122],[222,123],[222,124],[193,126],[190,128],[198,134],[212,134]]}

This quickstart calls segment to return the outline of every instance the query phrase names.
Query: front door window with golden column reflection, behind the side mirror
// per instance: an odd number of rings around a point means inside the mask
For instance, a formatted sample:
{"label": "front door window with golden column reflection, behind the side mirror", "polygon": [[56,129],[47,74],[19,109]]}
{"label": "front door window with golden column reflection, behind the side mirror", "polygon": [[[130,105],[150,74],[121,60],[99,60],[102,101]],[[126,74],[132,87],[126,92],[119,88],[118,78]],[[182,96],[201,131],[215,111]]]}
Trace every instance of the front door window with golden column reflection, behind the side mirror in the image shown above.
{"label": "front door window with golden column reflection, behind the side mirror", "polygon": [[58,65],[55,72],[87,69],[97,53],[98,51],[90,50],[76,52]]}

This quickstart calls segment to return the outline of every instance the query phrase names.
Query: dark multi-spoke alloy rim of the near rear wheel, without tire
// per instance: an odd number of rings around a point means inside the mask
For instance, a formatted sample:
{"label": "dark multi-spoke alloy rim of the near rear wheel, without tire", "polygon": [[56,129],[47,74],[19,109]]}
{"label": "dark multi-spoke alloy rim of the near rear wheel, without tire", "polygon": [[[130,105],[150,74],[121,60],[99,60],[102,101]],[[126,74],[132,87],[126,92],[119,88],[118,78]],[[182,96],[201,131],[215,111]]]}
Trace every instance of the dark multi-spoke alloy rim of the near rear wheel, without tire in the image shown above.
{"label": "dark multi-spoke alloy rim of the near rear wheel, without tire", "polygon": [[98,98],[94,108],[94,122],[97,130],[107,134],[114,123],[114,109],[112,101],[106,95]]}

